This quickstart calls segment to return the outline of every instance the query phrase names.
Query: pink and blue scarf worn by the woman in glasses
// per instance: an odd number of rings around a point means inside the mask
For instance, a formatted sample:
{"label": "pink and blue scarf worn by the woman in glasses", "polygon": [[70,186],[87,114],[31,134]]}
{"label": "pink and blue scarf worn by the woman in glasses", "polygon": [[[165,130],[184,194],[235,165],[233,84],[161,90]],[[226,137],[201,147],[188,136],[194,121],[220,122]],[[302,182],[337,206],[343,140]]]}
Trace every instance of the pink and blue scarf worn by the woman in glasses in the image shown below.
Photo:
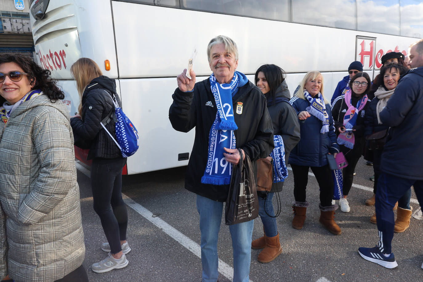
{"label": "pink and blue scarf worn by the woman in glasses", "polygon": [[[355,107],[351,104],[351,99],[352,99],[351,89],[345,93],[344,99],[348,109],[346,110],[346,113],[344,115],[343,125],[347,129],[352,129],[357,123],[358,112],[363,110],[364,106],[367,103],[367,100],[368,100],[367,94],[364,95],[360,100],[358,100],[357,106]],[[355,142],[354,133],[352,131],[345,131],[344,133],[340,133],[338,135],[337,142],[339,145],[344,145],[346,148],[350,148],[350,149],[354,148],[354,142]]]}

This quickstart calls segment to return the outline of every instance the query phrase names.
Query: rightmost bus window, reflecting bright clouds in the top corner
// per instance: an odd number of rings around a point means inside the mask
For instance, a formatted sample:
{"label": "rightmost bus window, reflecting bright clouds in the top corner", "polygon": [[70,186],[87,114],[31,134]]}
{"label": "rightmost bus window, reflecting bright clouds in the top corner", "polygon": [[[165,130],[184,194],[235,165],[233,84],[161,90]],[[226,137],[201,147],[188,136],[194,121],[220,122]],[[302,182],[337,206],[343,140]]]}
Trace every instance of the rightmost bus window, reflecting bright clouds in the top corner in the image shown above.
{"label": "rightmost bus window, reflecting bright clouds in the top corner", "polygon": [[423,37],[423,2],[420,0],[401,0],[401,35]]}

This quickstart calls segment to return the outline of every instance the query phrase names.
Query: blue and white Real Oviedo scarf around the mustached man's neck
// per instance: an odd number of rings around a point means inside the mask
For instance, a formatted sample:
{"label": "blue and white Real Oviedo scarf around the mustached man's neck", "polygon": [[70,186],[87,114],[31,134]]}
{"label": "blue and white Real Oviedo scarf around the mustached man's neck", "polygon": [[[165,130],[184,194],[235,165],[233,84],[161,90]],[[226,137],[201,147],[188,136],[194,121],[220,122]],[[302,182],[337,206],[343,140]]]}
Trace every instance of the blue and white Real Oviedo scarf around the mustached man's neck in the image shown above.
{"label": "blue and white Real Oviedo scarf around the mustached man's neck", "polygon": [[236,149],[234,130],[238,129],[233,116],[232,97],[237,88],[248,82],[247,77],[236,71],[231,83],[217,82],[214,74],[210,76],[210,88],[217,106],[216,118],[209,133],[209,149],[206,170],[201,183],[225,185],[231,183],[232,165],[227,162],[223,148]]}

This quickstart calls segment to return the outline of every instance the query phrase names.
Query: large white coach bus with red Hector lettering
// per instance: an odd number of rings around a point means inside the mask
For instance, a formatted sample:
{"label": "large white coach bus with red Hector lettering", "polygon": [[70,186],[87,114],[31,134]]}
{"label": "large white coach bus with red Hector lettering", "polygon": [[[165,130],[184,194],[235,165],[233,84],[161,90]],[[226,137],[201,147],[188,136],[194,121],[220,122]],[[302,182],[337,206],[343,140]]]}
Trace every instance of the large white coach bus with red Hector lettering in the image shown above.
{"label": "large white coach bus with red Hector lettering", "polygon": [[78,58],[90,57],[116,79],[140,133],[127,174],[188,163],[194,132],[175,131],[168,110],[194,49],[197,81],[211,74],[206,47],[214,36],[233,38],[237,69],[250,80],[261,64],[274,63],[288,73],[292,94],[307,71],[318,70],[329,99],[352,61],[374,76],[382,55],[407,54],[423,37],[417,0],[32,0],[30,10],[36,60],[59,80],[71,115],[79,97],[69,68]]}

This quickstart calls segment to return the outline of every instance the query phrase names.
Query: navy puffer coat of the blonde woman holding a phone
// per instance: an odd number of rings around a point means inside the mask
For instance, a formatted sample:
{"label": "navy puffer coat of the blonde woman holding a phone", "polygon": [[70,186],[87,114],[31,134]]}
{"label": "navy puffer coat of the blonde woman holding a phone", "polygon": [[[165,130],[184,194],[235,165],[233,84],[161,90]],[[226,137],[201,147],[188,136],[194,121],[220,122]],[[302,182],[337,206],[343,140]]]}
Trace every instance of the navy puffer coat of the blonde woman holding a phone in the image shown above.
{"label": "navy puffer coat of the blonde woman holding a phone", "polygon": [[[290,103],[297,112],[297,118],[300,112],[310,107],[310,103],[307,100],[296,96],[290,100]],[[291,151],[289,156],[290,164],[323,167],[327,164],[326,155],[328,153],[339,153],[339,145],[336,142],[337,138],[329,104],[326,104],[326,112],[329,115],[329,132],[320,133],[321,120],[313,115],[299,121],[301,140]]]}

